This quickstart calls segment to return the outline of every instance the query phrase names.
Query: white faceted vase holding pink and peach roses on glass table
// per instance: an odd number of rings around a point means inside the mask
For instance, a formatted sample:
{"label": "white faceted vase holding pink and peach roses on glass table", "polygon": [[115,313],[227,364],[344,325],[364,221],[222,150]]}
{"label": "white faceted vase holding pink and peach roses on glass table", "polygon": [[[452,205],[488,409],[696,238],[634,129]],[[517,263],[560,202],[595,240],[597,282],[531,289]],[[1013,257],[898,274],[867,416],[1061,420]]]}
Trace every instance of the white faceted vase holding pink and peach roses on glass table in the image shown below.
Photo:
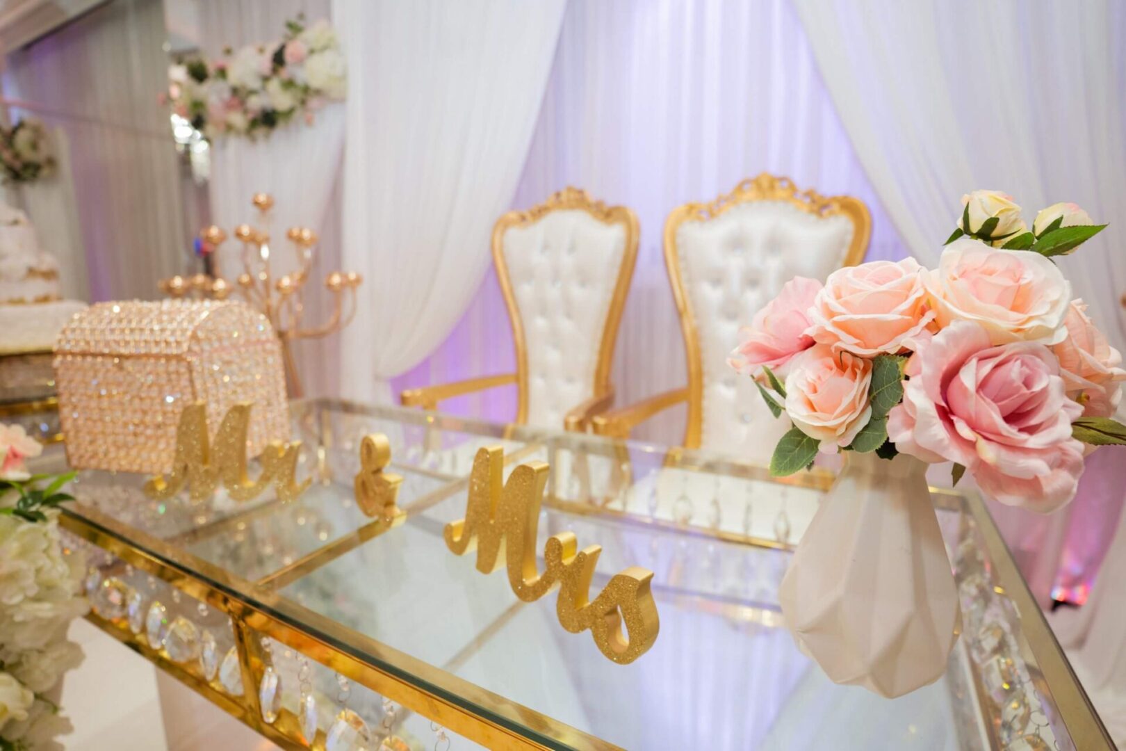
{"label": "white faceted vase holding pink and peach roses on glass table", "polygon": [[[1105,225],[1074,204],[1056,204],[1029,230],[1011,197],[991,190],[962,203],[938,268],[908,258],[842,268],[823,285],[793,279],[729,359],[756,378],[775,417],[785,412],[793,423],[771,474],[810,467],[819,452],[846,453],[846,470],[783,582],[781,604],[798,642],[831,678],[888,696],[942,673],[957,626],[923,463],[951,462],[955,483],[968,473],[1002,503],[1048,512],[1074,498],[1084,453],[1126,444],[1126,426],[1111,417],[1126,379],[1121,357],[1052,260]],[[869,497],[883,498],[869,510]],[[890,533],[892,517],[906,539]],[[848,527],[861,518],[884,528]],[[841,547],[850,531],[857,545]],[[887,549],[895,544],[906,547]],[[826,549],[837,560],[825,560]],[[894,587],[872,590],[887,566],[923,561],[927,570],[924,560],[935,572],[927,585],[899,582],[905,599],[896,600]],[[858,591],[861,582],[872,591]],[[935,613],[909,613],[920,596]],[[884,617],[894,627],[877,623]],[[927,618],[922,628],[919,618]],[[920,643],[908,632],[922,633]],[[894,640],[903,645],[888,652]],[[908,655],[920,669],[904,674]]]}

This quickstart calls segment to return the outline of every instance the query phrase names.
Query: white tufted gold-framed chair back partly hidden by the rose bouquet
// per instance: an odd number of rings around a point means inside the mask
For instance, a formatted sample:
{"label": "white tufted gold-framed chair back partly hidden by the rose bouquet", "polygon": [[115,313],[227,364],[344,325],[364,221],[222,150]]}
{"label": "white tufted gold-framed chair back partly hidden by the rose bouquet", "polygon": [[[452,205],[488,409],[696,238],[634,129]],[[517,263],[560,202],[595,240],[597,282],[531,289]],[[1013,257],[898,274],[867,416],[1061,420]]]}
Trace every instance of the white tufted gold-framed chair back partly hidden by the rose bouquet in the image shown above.
{"label": "white tufted gold-framed chair back partly hidden by the rose bouquet", "polygon": [[872,220],[856,198],[798,193],[760,175],[711,204],[674,209],[664,253],[688,359],[685,446],[767,463],[789,424],[726,365],[745,325],[794,276],[824,280],[860,262]]}

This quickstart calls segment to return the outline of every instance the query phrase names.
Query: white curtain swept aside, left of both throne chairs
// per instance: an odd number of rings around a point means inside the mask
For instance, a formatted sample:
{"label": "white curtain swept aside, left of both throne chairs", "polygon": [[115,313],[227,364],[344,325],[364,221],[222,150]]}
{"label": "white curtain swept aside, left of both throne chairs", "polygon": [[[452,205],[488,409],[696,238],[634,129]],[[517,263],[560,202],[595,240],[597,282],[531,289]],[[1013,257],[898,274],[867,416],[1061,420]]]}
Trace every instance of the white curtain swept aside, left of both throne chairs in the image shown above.
{"label": "white curtain swept aside, left of both throne chairs", "polygon": [[563,0],[334,0],[348,79],[343,260],[365,283],[342,391],[390,378],[453,329],[489,266],[539,111]]}

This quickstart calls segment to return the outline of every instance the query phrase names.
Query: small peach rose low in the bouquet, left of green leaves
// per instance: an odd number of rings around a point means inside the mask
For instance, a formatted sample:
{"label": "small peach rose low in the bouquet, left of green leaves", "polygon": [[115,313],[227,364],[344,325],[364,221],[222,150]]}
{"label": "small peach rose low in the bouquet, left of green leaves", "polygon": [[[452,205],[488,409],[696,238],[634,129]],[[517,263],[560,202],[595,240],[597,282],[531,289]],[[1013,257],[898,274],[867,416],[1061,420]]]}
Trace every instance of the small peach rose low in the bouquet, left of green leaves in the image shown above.
{"label": "small peach rose low in the bouquet, left of green leaves", "polygon": [[848,446],[872,417],[872,360],[815,345],[794,358],[786,377],[786,414],[819,449]]}

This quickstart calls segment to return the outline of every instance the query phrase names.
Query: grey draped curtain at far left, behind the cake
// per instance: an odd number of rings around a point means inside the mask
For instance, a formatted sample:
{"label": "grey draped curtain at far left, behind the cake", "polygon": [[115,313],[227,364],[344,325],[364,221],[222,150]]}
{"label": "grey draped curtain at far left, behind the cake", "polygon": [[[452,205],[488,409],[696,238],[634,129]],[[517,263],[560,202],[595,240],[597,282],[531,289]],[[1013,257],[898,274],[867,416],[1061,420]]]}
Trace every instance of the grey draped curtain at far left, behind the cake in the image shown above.
{"label": "grey draped curtain at far left, behind the cake", "polygon": [[[62,157],[56,182],[32,186],[25,203],[81,298],[152,298],[157,279],[181,270],[190,232],[180,164],[168,114],[155,106],[167,86],[164,38],[159,0],[122,0],[8,56],[5,96],[28,102],[9,106],[10,118],[43,119]],[[70,190],[79,233],[56,224]],[[87,277],[89,288],[79,288]]]}

